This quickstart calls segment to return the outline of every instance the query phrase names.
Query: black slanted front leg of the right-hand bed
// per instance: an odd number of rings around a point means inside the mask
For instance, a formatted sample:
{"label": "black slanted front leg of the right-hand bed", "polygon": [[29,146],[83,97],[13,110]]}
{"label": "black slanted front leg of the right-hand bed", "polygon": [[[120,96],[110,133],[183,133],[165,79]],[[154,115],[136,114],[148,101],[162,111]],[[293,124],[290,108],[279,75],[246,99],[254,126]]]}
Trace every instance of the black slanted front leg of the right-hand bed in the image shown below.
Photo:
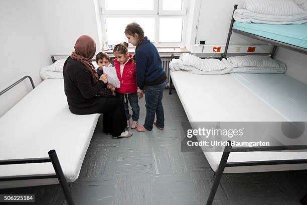
{"label": "black slanted front leg of the right-hand bed", "polygon": [[215,173],[214,181],[213,181],[206,205],[212,204],[217,188],[219,187],[220,180],[222,178],[222,175],[223,175],[223,172],[224,172],[224,169],[225,169],[228,157],[229,157],[229,153],[232,147],[231,142],[230,141],[227,141],[227,142],[228,142],[228,145],[224,149],[224,152],[223,152],[223,155],[220,161],[220,165]]}

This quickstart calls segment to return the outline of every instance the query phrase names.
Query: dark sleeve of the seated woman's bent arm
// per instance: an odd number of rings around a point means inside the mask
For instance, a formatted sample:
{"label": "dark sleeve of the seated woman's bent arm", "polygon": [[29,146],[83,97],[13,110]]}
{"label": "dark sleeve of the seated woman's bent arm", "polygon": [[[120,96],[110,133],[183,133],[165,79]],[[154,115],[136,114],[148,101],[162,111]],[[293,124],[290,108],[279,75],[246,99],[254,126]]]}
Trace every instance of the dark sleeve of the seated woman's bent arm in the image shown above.
{"label": "dark sleeve of the seated woman's bent arm", "polygon": [[77,72],[76,82],[81,94],[86,99],[94,97],[104,86],[104,82],[102,80],[98,80],[96,84],[92,86],[90,73],[83,70]]}

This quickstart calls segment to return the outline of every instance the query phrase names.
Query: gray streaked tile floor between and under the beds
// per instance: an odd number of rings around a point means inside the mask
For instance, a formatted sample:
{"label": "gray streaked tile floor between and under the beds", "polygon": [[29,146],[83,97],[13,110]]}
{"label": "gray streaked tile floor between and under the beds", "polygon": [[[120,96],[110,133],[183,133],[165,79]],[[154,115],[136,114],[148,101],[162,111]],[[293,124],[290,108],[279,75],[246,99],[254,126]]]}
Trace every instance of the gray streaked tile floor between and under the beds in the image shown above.
{"label": "gray streaked tile floor between and under the beds", "polygon": [[[139,104],[143,122],[143,99]],[[71,186],[76,204],[205,204],[213,172],[203,153],[181,152],[181,122],[188,119],[175,90],[172,95],[165,90],[163,104],[163,131],[132,131],[132,137],[114,140],[102,133],[99,121]],[[306,181],[307,171],[228,174],[221,179],[214,204],[299,204]],[[66,204],[59,185],[1,193],[35,194],[35,204]]]}

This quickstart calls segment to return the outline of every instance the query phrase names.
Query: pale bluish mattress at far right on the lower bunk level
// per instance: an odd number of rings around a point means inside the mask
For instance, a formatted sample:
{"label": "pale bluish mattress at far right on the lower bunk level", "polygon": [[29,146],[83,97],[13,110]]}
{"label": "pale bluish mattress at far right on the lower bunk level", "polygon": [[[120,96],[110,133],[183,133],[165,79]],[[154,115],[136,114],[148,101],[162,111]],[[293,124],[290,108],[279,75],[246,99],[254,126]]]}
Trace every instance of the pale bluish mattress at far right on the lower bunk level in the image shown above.
{"label": "pale bluish mattress at far right on the lower bunk level", "polygon": [[230,74],[287,121],[307,122],[307,85],[285,74]]}

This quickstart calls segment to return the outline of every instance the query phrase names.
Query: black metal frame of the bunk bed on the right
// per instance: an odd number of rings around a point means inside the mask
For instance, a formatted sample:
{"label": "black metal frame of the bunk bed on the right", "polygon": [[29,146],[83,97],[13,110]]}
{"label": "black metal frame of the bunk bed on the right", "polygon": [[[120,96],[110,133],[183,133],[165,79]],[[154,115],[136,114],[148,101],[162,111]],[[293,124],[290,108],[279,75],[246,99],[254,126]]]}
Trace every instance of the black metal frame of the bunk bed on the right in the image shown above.
{"label": "black metal frame of the bunk bed on the right", "polygon": [[[237,9],[238,5],[234,5],[234,9],[233,9],[233,13],[234,11]],[[307,54],[307,49],[305,48],[301,48],[298,46],[293,46],[290,44],[286,44],[280,41],[275,41],[272,39],[268,39],[268,38],[264,38],[255,34],[250,34],[247,32],[243,32],[243,31],[239,31],[237,29],[233,29],[233,23],[234,23],[234,19],[233,19],[233,15],[231,17],[231,22],[230,22],[230,28],[229,28],[229,32],[228,32],[228,37],[227,37],[227,42],[226,42],[226,46],[225,46],[225,51],[224,54],[221,54],[221,57],[219,58],[220,60],[222,60],[222,58],[226,58],[227,56],[227,50],[228,50],[228,46],[229,46],[229,42],[230,42],[230,37],[232,32],[244,35],[244,36],[248,36],[257,40],[261,40],[261,41],[265,41],[267,43],[270,43],[273,46],[272,52],[271,52],[271,58],[274,57],[274,54],[276,52],[277,47],[283,47],[286,49],[290,49],[292,51],[296,51],[296,52],[300,52],[303,54]],[[172,55],[172,59],[174,58],[174,55]],[[172,94],[172,77],[170,78],[170,90],[169,90],[169,94]],[[231,144],[230,141],[228,141],[228,144]],[[221,158],[221,161],[219,163],[218,169],[217,171],[214,173],[214,181],[213,181],[213,185],[211,187],[206,205],[211,205],[213,200],[214,200],[214,196],[216,194],[217,188],[219,186],[221,177],[223,175],[224,169],[225,167],[234,167],[234,166],[257,166],[257,165],[277,165],[277,164],[305,164],[307,163],[307,159],[301,159],[301,160],[271,160],[271,161],[247,161],[247,162],[228,162],[228,157],[229,154],[231,152],[255,152],[255,151],[283,151],[283,150],[306,150],[307,149],[307,145],[292,145],[292,146],[269,146],[269,147],[232,147],[231,145],[228,145],[225,147],[224,151],[223,151],[223,155]],[[307,168],[306,168],[307,169]],[[214,172],[214,170],[212,170]],[[228,173],[229,174],[229,173]],[[300,199],[300,202],[302,204],[307,205],[307,193]]]}

